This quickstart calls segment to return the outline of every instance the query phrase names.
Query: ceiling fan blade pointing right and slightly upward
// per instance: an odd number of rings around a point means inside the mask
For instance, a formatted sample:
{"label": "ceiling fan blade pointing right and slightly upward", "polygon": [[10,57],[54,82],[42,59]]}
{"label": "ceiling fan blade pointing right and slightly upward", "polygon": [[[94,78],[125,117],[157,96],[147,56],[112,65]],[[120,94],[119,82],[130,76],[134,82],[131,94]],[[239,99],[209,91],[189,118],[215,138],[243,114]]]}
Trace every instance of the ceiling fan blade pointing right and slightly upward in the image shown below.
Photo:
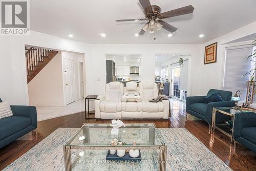
{"label": "ceiling fan blade pointing right and slightly upward", "polygon": [[174,17],[174,16],[179,16],[179,15],[185,15],[185,14],[190,14],[193,13],[194,7],[189,5],[186,7],[181,7],[177,8],[175,10],[163,12],[161,14],[158,14],[157,18],[163,19],[163,18],[169,18],[169,17]]}

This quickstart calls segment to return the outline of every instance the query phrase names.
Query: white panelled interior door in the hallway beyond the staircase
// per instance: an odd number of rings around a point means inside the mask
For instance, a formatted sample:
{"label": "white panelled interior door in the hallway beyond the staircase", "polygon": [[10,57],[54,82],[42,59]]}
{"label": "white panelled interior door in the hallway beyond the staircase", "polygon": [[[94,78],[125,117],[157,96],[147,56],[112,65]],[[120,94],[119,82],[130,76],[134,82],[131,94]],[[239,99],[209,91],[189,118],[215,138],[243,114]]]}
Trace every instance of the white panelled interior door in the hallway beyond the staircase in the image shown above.
{"label": "white panelled interior door in the hallway beyond the staircase", "polygon": [[74,61],[64,58],[66,104],[75,101]]}

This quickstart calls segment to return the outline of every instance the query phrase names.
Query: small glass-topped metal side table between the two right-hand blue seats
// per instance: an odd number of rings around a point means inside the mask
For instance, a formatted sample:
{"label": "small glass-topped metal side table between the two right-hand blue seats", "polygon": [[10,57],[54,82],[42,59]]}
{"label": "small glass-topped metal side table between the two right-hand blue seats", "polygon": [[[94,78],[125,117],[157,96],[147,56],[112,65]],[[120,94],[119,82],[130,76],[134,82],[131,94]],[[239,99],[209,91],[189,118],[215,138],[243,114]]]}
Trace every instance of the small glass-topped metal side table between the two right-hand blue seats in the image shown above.
{"label": "small glass-topped metal side table between the two right-hand blue seats", "polygon": [[[230,120],[231,123],[216,124],[217,112],[220,112],[221,114],[224,114],[227,116],[231,116],[231,120]],[[256,112],[256,111],[252,109],[247,109],[247,108],[238,108],[237,106],[212,109],[211,133],[216,129],[221,133],[225,134],[226,136],[230,137],[230,142],[232,143],[233,142],[233,124],[232,123],[234,123],[235,114],[239,112]]]}

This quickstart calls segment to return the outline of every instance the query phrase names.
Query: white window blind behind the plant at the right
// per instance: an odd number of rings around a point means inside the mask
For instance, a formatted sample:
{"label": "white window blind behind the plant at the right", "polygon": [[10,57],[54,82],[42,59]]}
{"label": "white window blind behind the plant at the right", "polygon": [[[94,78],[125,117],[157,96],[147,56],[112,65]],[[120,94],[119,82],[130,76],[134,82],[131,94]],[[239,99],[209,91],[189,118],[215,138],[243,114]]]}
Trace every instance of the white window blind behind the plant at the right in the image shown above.
{"label": "white window blind behind the plant at the right", "polygon": [[245,57],[252,53],[252,49],[252,46],[226,48],[223,90],[231,91],[233,95],[240,90],[241,101],[245,101],[247,81],[250,79],[249,74],[244,74],[251,69],[251,61]]}

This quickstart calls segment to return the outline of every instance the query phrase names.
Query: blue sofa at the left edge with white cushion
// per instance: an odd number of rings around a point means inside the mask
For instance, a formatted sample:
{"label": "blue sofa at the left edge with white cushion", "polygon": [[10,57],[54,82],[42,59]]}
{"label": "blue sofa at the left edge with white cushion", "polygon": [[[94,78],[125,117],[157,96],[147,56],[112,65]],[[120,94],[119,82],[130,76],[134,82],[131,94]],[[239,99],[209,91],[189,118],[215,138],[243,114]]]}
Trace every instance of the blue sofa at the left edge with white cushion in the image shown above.
{"label": "blue sofa at the left edge with white cushion", "polygon": [[34,106],[11,105],[11,110],[13,116],[0,119],[0,148],[37,128]]}

